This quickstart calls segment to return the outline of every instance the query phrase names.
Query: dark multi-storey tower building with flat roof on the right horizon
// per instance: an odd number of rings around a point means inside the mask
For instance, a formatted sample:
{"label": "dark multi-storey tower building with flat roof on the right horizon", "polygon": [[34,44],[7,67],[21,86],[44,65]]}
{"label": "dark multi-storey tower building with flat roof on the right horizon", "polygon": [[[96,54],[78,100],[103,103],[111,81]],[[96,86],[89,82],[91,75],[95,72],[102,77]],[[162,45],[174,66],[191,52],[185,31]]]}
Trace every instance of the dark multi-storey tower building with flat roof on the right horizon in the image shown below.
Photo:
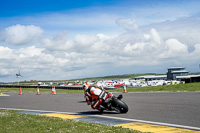
{"label": "dark multi-storey tower building with flat roof on the right horizon", "polygon": [[177,80],[177,76],[187,76],[188,71],[185,71],[184,67],[171,67],[168,68],[167,80]]}

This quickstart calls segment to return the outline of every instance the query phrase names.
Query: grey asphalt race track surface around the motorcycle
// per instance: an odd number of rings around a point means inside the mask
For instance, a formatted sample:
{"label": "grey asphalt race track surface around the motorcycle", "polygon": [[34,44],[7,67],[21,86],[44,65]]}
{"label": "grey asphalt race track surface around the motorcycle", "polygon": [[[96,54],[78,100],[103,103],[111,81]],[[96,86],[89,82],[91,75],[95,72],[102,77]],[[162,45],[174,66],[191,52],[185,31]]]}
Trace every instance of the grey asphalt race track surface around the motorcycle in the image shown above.
{"label": "grey asphalt race track surface around the motorcycle", "polygon": [[[80,93],[4,93],[0,108],[48,110],[100,115],[86,105]],[[118,95],[120,93],[113,93]],[[126,114],[105,111],[103,116],[137,119],[200,128],[200,92],[121,93],[129,106]]]}

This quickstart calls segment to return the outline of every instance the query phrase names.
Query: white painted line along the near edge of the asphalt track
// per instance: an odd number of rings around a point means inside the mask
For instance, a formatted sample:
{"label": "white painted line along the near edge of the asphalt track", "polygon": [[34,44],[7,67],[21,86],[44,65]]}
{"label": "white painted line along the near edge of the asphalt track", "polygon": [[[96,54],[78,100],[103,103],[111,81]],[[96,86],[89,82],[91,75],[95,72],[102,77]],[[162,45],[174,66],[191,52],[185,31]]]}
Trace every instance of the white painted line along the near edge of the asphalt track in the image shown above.
{"label": "white painted line along the near edge of the asphalt track", "polygon": [[[45,111],[45,110],[31,110],[31,109],[17,109],[17,108],[0,108],[0,109],[21,110],[21,111],[37,111],[37,112],[49,112],[49,113],[53,112],[53,113],[63,113],[63,114],[72,114],[72,115],[83,115],[81,113],[59,112],[59,111]],[[184,129],[191,129],[191,130],[200,131],[199,127],[191,127],[191,126],[184,126],[184,125],[177,125],[177,124],[169,124],[169,123],[161,123],[161,122],[153,122],[153,121],[145,121],[145,120],[137,120],[137,119],[128,119],[128,118],[112,117],[112,116],[102,116],[102,115],[87,115],[87,116],[101,117],[101,118],[111,118],[111,119],[117,119],[117,120],[141,122],[141,123],[147,123],[147,124],[155,124],[155,125],[170,126],[170,127],[177,127],[177,128],[184,128]]]}

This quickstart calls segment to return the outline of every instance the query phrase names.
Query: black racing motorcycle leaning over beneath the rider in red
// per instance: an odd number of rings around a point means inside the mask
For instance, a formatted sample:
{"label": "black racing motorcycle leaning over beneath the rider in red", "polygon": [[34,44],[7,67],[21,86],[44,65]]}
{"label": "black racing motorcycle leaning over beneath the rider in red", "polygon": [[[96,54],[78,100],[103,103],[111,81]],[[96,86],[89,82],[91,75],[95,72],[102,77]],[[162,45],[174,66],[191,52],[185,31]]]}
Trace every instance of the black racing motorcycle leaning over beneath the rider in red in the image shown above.
{"label": "black racing motorcycle leaning over beneath the rider in red", "polygon": [[116,111],[117,113],[127,113],[128,106],[121,100],[122,98],[123,96],[120,94],[118,97],[112,95],[110,98],[105,99],[105,101],[100,105],[99,112],[103,113],[104,110],[108,110]]}

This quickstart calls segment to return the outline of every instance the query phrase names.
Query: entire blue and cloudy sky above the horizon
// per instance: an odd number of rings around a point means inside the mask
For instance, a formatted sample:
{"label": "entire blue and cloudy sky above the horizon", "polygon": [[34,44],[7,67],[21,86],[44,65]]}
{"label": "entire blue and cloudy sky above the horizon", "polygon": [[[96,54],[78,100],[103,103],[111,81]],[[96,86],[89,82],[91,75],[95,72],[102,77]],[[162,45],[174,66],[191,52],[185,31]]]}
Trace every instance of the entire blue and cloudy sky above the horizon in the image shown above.
{"label": "entire blue and cloudy sky above the horizon", "polygon": [[0,82],[199,72],[199,7],[197,0],[1,0]]}

